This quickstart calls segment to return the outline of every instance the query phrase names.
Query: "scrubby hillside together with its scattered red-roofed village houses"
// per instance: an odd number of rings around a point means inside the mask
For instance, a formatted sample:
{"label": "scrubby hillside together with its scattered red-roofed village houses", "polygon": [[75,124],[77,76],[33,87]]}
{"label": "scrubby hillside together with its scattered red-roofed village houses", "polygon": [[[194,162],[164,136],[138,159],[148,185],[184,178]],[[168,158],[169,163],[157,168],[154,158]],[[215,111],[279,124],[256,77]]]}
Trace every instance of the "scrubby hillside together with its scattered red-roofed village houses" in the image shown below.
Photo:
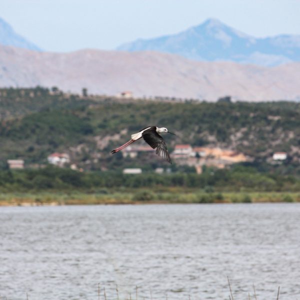
{"label": "scrubby hillside together with its scattered red-roofed village houses", "polygon": [[[299,165],[300,105],[295,102],[232,103],[224,96],[207,103],[132,96],[130,91],[116,97],[89,95],[86,88],[81,94],[57,87],[0,89],[1,167],[52,164],[79,171],[120,171],[144,166],[142,171],[157,173],[189,167],[201,173],[204,166],[222,169],[235,163]],[[176,132],[176,137],[166,137],[172,165],[143,142],[109,154],[145,119]]]}

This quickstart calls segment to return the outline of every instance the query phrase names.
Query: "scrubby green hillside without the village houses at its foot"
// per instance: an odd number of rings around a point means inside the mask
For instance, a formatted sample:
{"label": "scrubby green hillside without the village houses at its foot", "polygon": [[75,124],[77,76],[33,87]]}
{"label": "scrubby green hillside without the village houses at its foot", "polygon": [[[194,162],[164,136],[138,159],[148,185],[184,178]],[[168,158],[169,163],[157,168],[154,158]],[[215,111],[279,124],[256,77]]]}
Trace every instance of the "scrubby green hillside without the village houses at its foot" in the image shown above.
{"label": "scrubby green hillside without the village houses at its foot", "polygon": [[274,151],[286,151],[289,160],[280,166],[282,172],[297,171],[300,159],[300,104],[295,102],[125,101],[40,87],[1,89],[0,94],[2,167],[8,158],[44,164],[54,151],[69,153],[84,169],[166,165],[149,154],[129,159],[109,153],[147,125],[165,126],[177,134],[165,135],[170,151],[176,143],[220,146],[260,163]]}

